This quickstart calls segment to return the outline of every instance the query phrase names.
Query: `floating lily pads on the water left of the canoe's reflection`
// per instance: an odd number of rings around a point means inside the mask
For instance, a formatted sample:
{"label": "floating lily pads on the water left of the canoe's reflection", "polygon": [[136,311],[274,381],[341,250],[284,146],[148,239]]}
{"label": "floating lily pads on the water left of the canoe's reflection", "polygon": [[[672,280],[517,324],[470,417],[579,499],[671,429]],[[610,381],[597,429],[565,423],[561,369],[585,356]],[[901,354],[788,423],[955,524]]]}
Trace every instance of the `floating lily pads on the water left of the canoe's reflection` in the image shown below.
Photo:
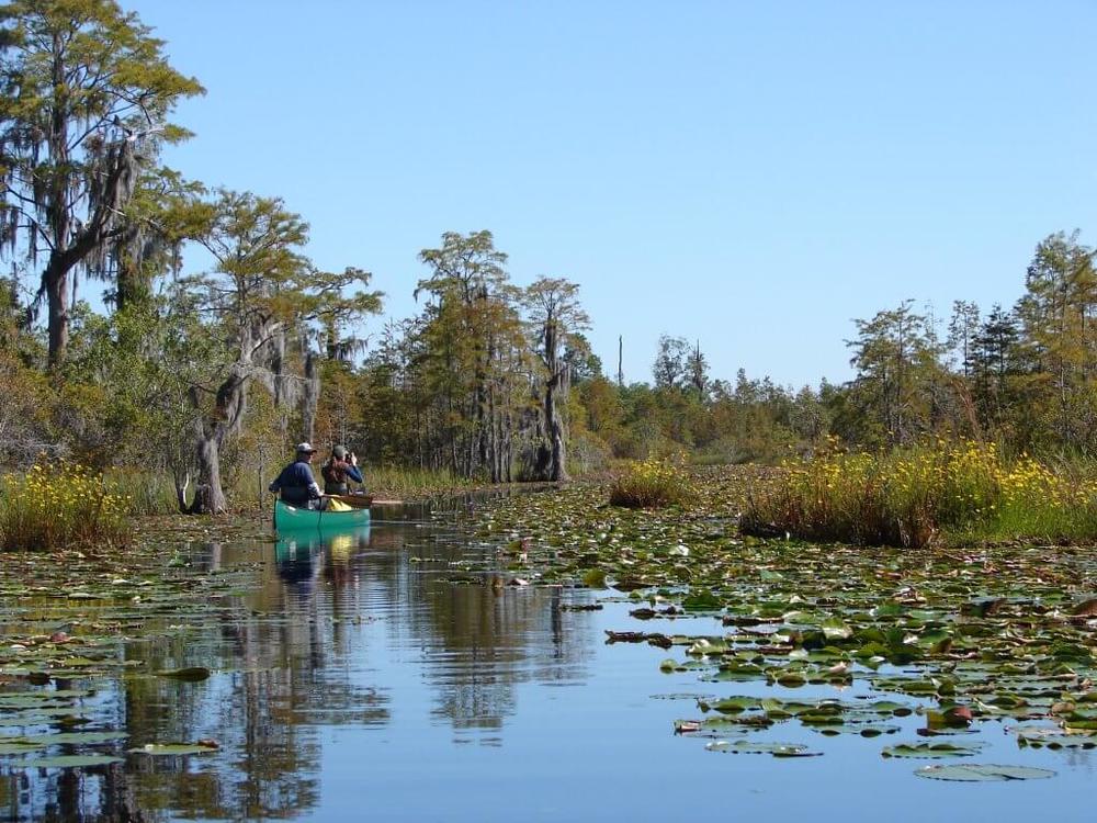
{"label": "floating lily pads on the water left of the canoe's reflection", "polygon": [[[219,624],[245,608],[251,570],[202,571],[185,544],[169,551],[8,553],[0,579],[0,767],[88,768],[134,756],[214,752],[213,741],[138,742],[102,728],[111,680],[156,677],[180,688],[203,666],[159,668],[139,641]],[[76,684],[83,688],[60,687]],[[101,692],[100,689],[103,691]],[[105,695],[105,697],[104,697]]]}

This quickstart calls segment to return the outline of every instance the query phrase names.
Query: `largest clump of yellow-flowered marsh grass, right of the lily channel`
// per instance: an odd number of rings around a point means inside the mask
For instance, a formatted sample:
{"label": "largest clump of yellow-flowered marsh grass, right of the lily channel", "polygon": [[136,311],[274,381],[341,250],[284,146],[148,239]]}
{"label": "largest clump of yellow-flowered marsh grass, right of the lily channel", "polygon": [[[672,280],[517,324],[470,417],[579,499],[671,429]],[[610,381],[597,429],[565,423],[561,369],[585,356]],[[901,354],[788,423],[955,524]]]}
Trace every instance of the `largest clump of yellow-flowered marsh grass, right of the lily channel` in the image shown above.
{"label": "largest clump of yellow-flowered marsh grass, right of the lily channel", "polygon": [[1082,464],[1005,460],[993,443],[938,441],[886,454],[832,448],[759,483],[740,529],[862,545],[1094,541],[1097,476]]}

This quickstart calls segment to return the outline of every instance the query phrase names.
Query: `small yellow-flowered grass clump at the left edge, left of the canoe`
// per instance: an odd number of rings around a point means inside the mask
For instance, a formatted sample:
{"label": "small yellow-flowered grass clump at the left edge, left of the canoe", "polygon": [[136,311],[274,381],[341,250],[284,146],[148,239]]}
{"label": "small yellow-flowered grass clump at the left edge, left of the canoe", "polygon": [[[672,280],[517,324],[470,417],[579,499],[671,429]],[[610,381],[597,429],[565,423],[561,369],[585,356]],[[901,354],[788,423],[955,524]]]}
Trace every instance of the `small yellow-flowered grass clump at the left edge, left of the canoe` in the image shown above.
{"label": "small yellow-flowered grass clump at the left edge, left of the canoe", "polygon": [[0,483],[0,548],[53,551],[129,542],[129,499],[77,463],[35,463]]}

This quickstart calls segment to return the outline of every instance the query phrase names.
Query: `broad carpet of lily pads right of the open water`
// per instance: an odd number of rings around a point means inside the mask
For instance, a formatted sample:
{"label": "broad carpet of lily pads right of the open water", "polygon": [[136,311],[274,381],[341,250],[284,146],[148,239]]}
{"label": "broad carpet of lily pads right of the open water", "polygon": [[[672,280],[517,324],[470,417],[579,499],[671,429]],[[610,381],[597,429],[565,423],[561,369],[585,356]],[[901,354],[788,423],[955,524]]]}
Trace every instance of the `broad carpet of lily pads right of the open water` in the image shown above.
{"label": "broad carpet of lily pads right of the open water", "polygon": [[[986,721],[1002,720],[1042,722],[1052,730],[1018,732],[1022,746],[1090,744],[1089,734],[1097,733],[1097,553],[1044,545],[864,549],[744,538],[735,515],[748,486],[749,476],[716,476],[700,485],[698,505],[656,511],[610,507],[603,487],[570,487],[499,501],[479,526],[511,541],[504,560],[523,577],[568,586],[603,583],[611,596],[635,601],[632,617],[644,621],[644,630],[621,627],[608,641],[678,650],[660,664],[666,672],[690,672],[711,683],[893,694],[925,718],[920,733],[927,737],[979,732]],[[683,616],[709,617],[717,631],[676,631]],[[730,697],[710,709],[721,712],[721,706],[742,700],[757,702]],[[753,708],[727,713],[739,715],[736,728],[766,728],[777,720],[771,710],[780,710]],[[887,732],[889,723],[870,722],[871,712],[848,701],[787,709],[801,722],[818,721],[804,725]],[[717,725],[697,723],[695,731]],[[679,731],[686,729],[693,726]],[[903,744],[887,754],[969,753],[966,742],[931,746]]]}

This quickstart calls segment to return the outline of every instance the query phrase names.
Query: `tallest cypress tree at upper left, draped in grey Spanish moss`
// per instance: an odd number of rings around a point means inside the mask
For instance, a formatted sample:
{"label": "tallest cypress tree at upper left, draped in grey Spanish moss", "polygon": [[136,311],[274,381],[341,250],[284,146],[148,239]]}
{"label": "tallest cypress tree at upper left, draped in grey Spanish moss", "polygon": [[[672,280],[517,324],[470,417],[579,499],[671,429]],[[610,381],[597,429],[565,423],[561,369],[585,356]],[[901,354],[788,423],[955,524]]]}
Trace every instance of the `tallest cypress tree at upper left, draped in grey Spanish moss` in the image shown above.
{"label": "tallest cypress tree at upper left, draped in grey Spanish moss", "polygon": [[0,251],[41,275],[59,365],[73,271],[105,270],[142,169],[188,136],[167,117],[203,89],[112,0],[12,0],[0,19],[0,196],[11,212]]}

